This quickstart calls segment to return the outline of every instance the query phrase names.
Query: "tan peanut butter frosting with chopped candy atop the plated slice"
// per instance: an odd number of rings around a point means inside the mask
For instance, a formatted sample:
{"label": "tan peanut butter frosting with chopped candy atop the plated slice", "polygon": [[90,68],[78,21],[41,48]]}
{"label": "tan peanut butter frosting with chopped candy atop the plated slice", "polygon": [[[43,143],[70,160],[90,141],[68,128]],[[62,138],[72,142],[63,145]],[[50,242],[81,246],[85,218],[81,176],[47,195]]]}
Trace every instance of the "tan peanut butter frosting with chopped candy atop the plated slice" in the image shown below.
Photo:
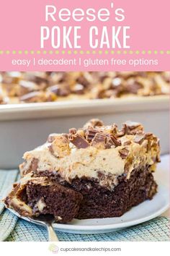
{"label": "tan peanut butter frosting with chopped candy atop the plated slice", "polygon": [[154,171],[159,154],[158,138],[145,133],[141,124],[127,121],[118,129],[116,124],[105,126],[92,119],[68,134],[52,134],[44,145],[24,153],[21,182],[48,171],[68,183],[86,177],[113,189],[117,177],[129,179],[134,168],[150,166]]}

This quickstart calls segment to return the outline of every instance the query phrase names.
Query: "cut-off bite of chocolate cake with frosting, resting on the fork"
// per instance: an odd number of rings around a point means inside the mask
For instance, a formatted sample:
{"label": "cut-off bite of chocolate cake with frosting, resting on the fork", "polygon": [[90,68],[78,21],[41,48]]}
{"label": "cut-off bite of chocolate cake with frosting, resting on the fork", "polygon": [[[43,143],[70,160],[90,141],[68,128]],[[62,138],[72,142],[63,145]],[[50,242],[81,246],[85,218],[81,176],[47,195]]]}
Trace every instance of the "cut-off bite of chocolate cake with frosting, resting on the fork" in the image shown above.
{"label": "cut-off bite of chocolate cake with frosting, resting on the fork", "polygon": [[52,214],[55,221],[71,221],[79,211],[82,195],[48,178],[22,179],[5,199],[7,207],[17,210],[21,216]]}

